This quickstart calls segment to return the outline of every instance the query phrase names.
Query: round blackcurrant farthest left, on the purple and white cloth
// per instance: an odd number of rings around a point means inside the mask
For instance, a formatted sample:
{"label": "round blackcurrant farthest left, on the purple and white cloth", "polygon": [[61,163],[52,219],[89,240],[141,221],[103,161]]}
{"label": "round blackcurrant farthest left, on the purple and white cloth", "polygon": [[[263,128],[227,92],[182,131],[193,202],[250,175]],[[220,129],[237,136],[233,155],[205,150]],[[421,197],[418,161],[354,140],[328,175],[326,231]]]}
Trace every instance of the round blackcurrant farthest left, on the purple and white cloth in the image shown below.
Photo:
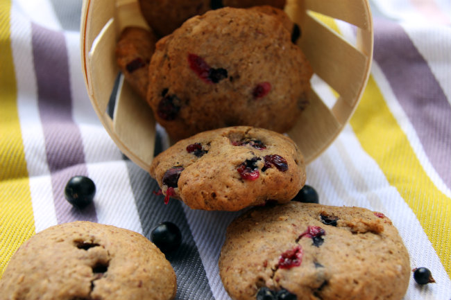
{"label": "round blackcurrant farthest left, on the purple and white cloth", "polygon": [[96,185],[89,177],[74,176],[66,184],[66,200],[78,209],[88,206],[94,199],[94,195],[96,195]]}

